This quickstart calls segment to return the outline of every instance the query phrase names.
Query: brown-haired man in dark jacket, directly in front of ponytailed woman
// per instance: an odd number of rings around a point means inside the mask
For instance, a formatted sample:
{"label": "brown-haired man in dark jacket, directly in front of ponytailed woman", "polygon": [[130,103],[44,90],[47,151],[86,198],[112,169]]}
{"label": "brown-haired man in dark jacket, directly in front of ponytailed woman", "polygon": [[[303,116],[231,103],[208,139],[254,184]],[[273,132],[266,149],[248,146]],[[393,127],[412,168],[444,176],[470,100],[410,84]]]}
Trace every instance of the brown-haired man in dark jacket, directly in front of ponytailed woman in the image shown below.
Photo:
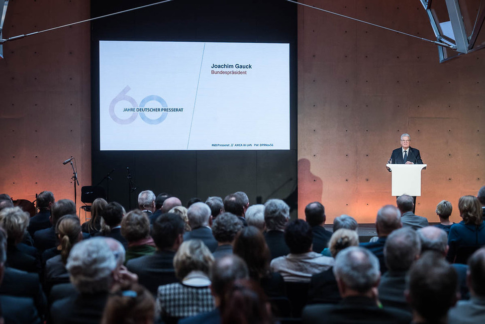
{"label": "brown-haired man in dark jacket, directly in front of ponytailed woman", "polygon": [[40,229],[34,233],[35,247],[39,252],[56,247],[59,240],[56,234],[56,225],[59,218],[64,215],[76,215],[76,205],[72,200],[61,199],[55,202],[51,207],[50,221],[52,226]]}

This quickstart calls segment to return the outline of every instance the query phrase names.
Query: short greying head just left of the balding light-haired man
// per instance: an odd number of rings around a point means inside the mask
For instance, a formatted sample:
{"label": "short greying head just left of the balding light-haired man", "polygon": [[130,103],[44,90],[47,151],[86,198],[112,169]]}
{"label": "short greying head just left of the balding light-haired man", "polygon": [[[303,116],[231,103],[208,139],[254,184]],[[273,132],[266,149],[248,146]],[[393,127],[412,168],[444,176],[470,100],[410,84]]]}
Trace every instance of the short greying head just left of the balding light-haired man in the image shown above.
{"label": "short greying head just left of the balding light-haired man", "polygon": [[407,271],[421,253],[421,241],[414,229],[403,227],[389,234],[384,258],[390,271]]}

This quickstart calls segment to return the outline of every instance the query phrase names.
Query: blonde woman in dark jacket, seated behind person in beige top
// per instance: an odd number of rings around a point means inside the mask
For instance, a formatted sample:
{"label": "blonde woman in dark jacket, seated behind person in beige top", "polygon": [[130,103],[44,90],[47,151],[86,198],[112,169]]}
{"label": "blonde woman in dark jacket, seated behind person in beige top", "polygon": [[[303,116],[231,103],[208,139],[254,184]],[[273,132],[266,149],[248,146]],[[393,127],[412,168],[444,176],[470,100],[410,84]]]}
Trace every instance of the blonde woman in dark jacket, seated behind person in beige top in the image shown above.
{"label": "blonde woman in dark jacket, seated behind person in beige top", "polygon": [[[359,235],[352,229],[337,229],[328,242],[329,251],[333,258],[343,249],[349,246],[359,246]],[[333,267],[314,274],[310,279],[308,289],[308,302],[336,304],[342,300],[338,290],[337,279],[333,273]]]}

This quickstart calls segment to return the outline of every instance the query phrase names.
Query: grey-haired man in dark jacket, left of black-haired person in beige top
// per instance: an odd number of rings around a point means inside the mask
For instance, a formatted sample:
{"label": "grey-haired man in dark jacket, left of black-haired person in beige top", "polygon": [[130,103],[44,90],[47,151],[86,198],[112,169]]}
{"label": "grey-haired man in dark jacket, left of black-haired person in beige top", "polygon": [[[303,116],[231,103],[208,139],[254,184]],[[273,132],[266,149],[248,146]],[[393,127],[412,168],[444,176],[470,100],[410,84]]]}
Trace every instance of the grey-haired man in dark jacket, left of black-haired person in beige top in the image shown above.
{"label": "grey-haired man in dark jacket, left of black-haired person in beige top", "polygon": [[285,227],[290,220],[290,207],[280,199],[270,199],[265,204],[266,244],[271,259],[287,255],[290,249],[285,242]]}

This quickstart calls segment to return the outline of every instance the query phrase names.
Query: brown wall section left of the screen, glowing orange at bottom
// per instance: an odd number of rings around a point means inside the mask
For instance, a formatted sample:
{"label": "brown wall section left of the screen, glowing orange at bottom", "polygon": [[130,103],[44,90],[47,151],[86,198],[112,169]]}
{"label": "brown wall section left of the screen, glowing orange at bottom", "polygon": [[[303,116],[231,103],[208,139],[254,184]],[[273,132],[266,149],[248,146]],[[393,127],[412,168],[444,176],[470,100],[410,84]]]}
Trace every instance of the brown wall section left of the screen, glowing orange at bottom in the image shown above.
{"label": "brown wall section left of the screen, glowing orange at bottom", "polygon": [[[10,1],[3,38],[89,17],[86,0]],[[3,54],[0,192],[33,201],[50,190],[74,200],[64,160],[74,156],[80,185],[91,184],[90,24],[6,42]]]}

